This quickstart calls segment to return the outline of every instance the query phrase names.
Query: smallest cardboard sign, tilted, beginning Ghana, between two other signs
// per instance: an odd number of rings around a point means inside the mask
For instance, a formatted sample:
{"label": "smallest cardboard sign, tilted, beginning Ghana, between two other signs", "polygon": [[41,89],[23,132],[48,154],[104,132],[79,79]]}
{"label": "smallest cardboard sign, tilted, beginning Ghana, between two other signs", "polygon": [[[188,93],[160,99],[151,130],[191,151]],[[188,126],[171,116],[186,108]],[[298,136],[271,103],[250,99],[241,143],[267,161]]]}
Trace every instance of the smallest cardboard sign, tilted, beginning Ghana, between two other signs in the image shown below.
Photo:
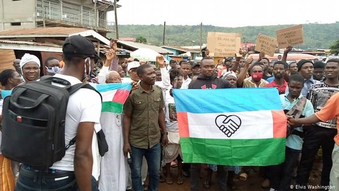
{"label": "smallest cardboard sign, tilted, beginning Ghana, between two other signs", "polygon": [[259,33],[254,50],[258,52],[264,52],[268,56],[274,56],[274,51],[276,50],[276,47],[277,39]]}

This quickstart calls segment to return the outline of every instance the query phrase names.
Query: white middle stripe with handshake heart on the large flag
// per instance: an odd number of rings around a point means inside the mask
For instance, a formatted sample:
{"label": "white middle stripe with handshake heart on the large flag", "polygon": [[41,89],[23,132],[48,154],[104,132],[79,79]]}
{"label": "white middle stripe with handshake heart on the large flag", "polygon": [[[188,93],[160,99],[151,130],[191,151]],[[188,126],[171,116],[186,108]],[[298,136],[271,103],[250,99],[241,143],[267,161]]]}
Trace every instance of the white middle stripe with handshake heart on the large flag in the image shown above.
{"label": "white middle stripe with handshake heart on the large flag", "polygon": [[[225,115],[225,116],[219,116]],[[231,116],[236,115],[237,117]],[[219,116],[217,118],[217,116]],[[231,117],[226,117],[231,116]],[[189,136],[202,139],[267,139],[273,138],[273,116],[271,111],[243,111],[230,113],[187,113]],[[216,120],[217,118],[217,120]],[[227,118],[227,119],[226,119]],[[232,119],[232,120],[229,120]],[[219,126],[239,125],[240,127],[228,137]],[[224,124],[223,122],[228,122]],[[233,123],[233,122],[235,123]],[[228,131],[226,131],[228,132]],[[227,133],[230,135],[229,133]]]}

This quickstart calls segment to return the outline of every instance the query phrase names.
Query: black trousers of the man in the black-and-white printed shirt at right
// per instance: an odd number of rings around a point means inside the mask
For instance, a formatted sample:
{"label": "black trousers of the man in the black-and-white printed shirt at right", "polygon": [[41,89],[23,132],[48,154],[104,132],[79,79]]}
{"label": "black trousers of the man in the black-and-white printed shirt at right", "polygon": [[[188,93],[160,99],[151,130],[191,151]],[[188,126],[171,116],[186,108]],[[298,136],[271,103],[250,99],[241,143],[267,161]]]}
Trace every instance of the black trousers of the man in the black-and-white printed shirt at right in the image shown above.
{"label": "black trousers of the man in the black-and-white printed shirt at right", "polygon": [[319,126],[313,126],[307,129],[303,143],[301,160],[298,166],[297,176],[295,178],[296,185],[306,186],[307,188],[314,158],[321,146],[323,150],[323,170],[320,185],[329,186],[330,171],[332,168],[332,151],[334,147],[333,138],[336,134],[337,129]]}

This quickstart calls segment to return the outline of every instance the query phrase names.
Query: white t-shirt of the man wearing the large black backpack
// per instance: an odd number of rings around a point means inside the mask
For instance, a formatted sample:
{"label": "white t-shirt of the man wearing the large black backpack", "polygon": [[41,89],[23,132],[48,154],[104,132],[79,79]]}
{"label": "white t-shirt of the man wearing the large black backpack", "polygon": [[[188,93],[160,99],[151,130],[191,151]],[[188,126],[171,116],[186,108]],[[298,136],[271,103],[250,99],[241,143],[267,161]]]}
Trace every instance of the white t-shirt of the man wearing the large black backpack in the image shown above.
{"label": "white t-shirt of the man wearing the large black backpack", "polygon": [[[54,77],[67,80],[71,85],[81,83],[73,76],[56,74]],[[53,84],[58,85],[58,84]],[[60,86],[60,85],[58,85]],[[81,122],[100,123],[101,98],[93,90],[81,88],[69,96],[65,119],[65,145],[67,145],[76,135],[77,127]],[[51,166],[51,169],[74,171],[74,152],[76,144],[66,150],[65,156]]]}

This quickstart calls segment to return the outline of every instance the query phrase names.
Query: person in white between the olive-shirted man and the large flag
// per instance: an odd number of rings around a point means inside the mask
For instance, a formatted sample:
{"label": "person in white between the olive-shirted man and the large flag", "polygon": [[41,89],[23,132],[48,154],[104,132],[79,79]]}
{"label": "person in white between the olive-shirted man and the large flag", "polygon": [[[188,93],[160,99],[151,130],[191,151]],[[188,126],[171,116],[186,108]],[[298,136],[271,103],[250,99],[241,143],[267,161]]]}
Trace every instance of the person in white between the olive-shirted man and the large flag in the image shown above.
{"label": "person in white between the olive-shirted man and the large flag", "polygon": [[[181,64],[183,68],[183,63]],[[172,89],[180,89],[183,84],[182,71],[178,69],[170,70],[170,82]],[[167,90],[165,95],[165,126],[168,132],[169,144],[164,148],[163,162],[166,164],[166,182],[173,184],[170,177],[170,166],[173,160],[178,161],[178,176],[177,184],[183,184],[184,179],[182,175],[183,154],[180,147],[179,126],[177,120],[177,113],[175,109],[174,98],[171,91]]]}

